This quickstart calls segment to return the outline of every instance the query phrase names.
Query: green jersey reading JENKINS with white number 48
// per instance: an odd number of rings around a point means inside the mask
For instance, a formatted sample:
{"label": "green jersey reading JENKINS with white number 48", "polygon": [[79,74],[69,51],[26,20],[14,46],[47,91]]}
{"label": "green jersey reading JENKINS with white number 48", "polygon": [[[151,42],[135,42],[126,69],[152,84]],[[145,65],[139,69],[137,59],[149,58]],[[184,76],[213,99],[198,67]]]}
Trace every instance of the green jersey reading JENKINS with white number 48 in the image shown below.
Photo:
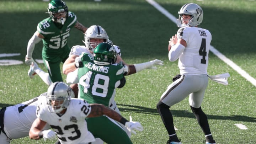
{"label": "green jersey reading JENKINS with white number 48", "polygon": [[109,106],[124,76],[122,63],[96,65],[91,54],[83,53],[83,67],[78,69],[79,97],[88,103]]}

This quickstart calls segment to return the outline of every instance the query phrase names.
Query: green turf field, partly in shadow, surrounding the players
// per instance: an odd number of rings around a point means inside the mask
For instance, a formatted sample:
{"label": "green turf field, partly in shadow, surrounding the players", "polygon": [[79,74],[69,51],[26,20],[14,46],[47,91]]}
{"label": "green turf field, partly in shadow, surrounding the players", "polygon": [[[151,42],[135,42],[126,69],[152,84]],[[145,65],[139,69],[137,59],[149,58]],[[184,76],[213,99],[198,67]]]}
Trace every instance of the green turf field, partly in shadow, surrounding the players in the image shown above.
{"label": "green turf field, partly in shadow, surrounding the players", "polygon": [[[200,27],[212,33],[211,45],[254,79],[256,78],[256,1],[252,0],[156,0],[178,17],[180,7],[188,2],[199,4],[204,11]],[[66,0],[69,11],[78,21],[89,27],[100,25],[114,44],[121,47],[122,58],[128,64],[153,59],[164,61],[158,70],[143,70],[127,76],[127,83],[117,89],[116,102],[122,115],[139,121],[143,132],[132,135],[134,144],[165,144],[168,134],[156,110],[161,94],[179,73],[176,62],[168,60],[168,41],[178,27],[145,0]],[[48,2],[42,0],[0,1],[0,56],[18,53],[3,60],[24,62],[28,40],[38,22],[48,17]],[[83,45],[84,35],[75,28],[70,33],[69,46]],[[42,42],[34,49],[33,58],[42,59]],[[43,64],[39,64],[46,70]],[[0,66],[0,108],[31,99],[47,90],[47,85],[35,76],[27,75],[26,64]],[[209,53],[208,74],[229,73],[229,85],[209,81],[202,109],[208,116],[214,139],[219,144],[256,143],[255,85],[237,71]],[[65,75],[63,75],[65,78]],[[171,107],[176,133],[183,144],[199,144],[204,140],[201,128],[190,110],[188,98]],[[243,124],[242,130],[234,124]],[[107,132],[107,131],[106,131]],[[11,144],[41,144],[53,141],[12,140]],[[1,142],[0,142],[1,143]]]}

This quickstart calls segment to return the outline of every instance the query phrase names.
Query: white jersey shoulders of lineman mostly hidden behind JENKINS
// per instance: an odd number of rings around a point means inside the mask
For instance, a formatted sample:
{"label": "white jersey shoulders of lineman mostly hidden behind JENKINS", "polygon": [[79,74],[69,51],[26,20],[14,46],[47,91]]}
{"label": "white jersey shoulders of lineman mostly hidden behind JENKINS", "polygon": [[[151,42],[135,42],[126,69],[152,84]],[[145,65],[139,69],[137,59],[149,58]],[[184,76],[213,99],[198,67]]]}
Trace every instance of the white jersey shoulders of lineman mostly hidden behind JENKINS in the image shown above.
{"label": "white jersey shoulders of lineman mostly hidden behind JENKINS", "polygon": [[[116,52],[121,56],[121,50],[118,46],[113,45],[114,48],[116,49]],[[83,52],[85,53],[90,53],[93,56],[93,54],[91,53],[91,51],[89,49],[87,49],[85,46],[73,46],[70,50],[69,56],[70,55],[81,55]]]}

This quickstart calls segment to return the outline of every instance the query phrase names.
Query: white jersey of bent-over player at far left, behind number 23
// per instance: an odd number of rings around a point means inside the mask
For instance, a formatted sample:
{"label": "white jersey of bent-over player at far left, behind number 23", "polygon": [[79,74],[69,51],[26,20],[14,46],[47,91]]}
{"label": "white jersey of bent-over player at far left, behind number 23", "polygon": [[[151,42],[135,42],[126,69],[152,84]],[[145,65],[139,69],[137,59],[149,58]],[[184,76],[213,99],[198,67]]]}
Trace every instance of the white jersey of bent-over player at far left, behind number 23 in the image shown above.
{"label": "white jersey of bent-over player at far left, behind number 23", "polygon": [[[6,107],[4,113],[4,131],[10,139],[27,137],[32,123],[37,118],[37,106],[46,102],[46,93],[32,100]],[[44,130],[49,129],[47,124]]]}

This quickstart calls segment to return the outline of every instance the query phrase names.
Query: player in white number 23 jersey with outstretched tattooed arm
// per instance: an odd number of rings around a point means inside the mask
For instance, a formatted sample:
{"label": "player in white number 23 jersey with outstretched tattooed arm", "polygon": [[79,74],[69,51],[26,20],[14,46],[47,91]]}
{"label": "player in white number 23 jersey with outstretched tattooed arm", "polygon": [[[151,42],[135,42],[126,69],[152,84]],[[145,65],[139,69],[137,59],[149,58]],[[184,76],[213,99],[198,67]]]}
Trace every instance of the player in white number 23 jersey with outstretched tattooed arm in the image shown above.
{"label": "player in white number 23 jersey with outstretched tattooed arm", "polygon": [[[95,141],[87,130],[86,117],[98,117],[103,114],[121,122],[130,130],[142,131],[139,122],[127,121],[120,114],[101,104],[89,104],[82,99],[71,98],[72,89],[64,82],[54,82],[47,90],[47,101],[37,107],[36,120],[33,122],[29,136],[31,139],[54,139],[58,137],[61,144],[81,144]],[[43,130],[46,124],[53,130]],[[120,135],[117,135],[120,136]],[[124,137],[129,143],[129,137]]]}

